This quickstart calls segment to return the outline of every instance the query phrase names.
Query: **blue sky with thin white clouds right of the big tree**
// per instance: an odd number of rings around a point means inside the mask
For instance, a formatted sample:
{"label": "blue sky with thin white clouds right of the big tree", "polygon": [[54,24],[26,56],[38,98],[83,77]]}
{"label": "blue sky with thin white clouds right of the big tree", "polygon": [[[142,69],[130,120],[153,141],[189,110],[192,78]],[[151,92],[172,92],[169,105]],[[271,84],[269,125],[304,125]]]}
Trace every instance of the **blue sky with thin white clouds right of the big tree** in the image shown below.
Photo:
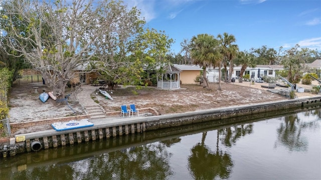
{"label": "blue sky with thin white clouds right of the big tree", "polygon": [[201,33],[227,32],[240,50],[294,47],[321,49],[321,0],[124,0],[136,6],[146,27],[164,30],[181,42]]}

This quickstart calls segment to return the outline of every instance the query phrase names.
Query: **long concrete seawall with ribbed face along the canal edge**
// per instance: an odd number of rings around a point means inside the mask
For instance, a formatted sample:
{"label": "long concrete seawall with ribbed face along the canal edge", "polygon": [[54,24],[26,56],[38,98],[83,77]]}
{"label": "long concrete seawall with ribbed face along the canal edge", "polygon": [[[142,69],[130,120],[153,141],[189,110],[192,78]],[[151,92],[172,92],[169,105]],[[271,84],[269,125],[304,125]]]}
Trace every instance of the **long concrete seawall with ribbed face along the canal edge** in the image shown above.
{"label": "long concrete seawall with ribbed face along the canal edge", "polygon": [[10,139],[10,144],[5,144],[6,148],[2,145],[1,155],[13,156],[17,153],[38,151],[66,144],[109,138],[110,136],[142,133],[148,130],[175,127],[204,121],[215,121],[219,119],[228,120],[238,116],[260,117],[262,114],[271,114],[270,112],[272,111],[284,110],[284,112],[290,112],[295,109],[301,109],[301,107],[319,106],[320,104],[321,96],[318,96],[193,111],[180,114],[90,120],[94,123],[94,126],[63,131],[50,129],[17,134],[15,138]]}

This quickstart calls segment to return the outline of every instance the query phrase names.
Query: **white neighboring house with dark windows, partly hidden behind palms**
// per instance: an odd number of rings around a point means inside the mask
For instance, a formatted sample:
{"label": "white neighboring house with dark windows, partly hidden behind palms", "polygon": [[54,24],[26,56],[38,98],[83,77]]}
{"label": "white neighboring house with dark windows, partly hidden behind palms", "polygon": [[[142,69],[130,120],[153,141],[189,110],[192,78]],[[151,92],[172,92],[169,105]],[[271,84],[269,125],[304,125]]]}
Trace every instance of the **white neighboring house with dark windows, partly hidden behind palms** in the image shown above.
{"label": "white neighboring house with dark windows, partly hidden behind palms", "polygon": [[[232,78],[238,78],[240,76],[241,72],[241,65],[234,66],[233,68],[233,73],[232,73]],[[223,68],[222,68],[223,69]],[[227,67],[228,71],[229,67]],[[278,70],[284,70],[283,65],[256,65],[256,67],[247,67],[243,73],[245,74],[250,74],[250,78],[258,79],[263,76],[270,76],[270,77],[275,77],[276,72]],[[228,72],[227,72],[228,73]],[[210,82],[217,82],[218,81],[218,76],[219,76],[219,68],[208,68],[207,70],[207,78],[209,79]]]}

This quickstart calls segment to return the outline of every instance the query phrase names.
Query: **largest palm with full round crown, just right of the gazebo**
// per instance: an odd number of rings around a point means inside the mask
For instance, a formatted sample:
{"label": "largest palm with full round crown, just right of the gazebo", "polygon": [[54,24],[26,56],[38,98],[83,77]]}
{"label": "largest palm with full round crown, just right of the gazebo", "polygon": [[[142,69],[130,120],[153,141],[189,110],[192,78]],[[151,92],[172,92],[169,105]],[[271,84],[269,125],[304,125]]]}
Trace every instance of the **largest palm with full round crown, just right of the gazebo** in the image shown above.
{"label": "largest palm with full round crown, just right of the gazebo", "polygon": [[207,33],[198,34],[191,39],[191,57],[193,63],[200,64],[203,67],[203,87],[210,88],[206,77],[206,68],[214,66],[221,59],[218,47],[218,40],[213,35]]}

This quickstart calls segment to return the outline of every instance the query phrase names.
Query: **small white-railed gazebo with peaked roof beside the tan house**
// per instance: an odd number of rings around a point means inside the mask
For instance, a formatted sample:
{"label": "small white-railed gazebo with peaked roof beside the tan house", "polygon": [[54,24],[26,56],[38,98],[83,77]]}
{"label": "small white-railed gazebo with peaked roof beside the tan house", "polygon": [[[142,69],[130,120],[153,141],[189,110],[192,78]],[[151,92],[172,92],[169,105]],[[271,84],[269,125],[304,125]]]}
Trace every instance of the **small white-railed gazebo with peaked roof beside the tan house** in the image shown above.
{"label": "small white-railed gazebo with peaked roof beside the tan house", "polygon": [[174,65],[167,65],[165,72],[157,75],[157,88],[162,89],[178,89],[181,88],[180,72],[181,69]]}

